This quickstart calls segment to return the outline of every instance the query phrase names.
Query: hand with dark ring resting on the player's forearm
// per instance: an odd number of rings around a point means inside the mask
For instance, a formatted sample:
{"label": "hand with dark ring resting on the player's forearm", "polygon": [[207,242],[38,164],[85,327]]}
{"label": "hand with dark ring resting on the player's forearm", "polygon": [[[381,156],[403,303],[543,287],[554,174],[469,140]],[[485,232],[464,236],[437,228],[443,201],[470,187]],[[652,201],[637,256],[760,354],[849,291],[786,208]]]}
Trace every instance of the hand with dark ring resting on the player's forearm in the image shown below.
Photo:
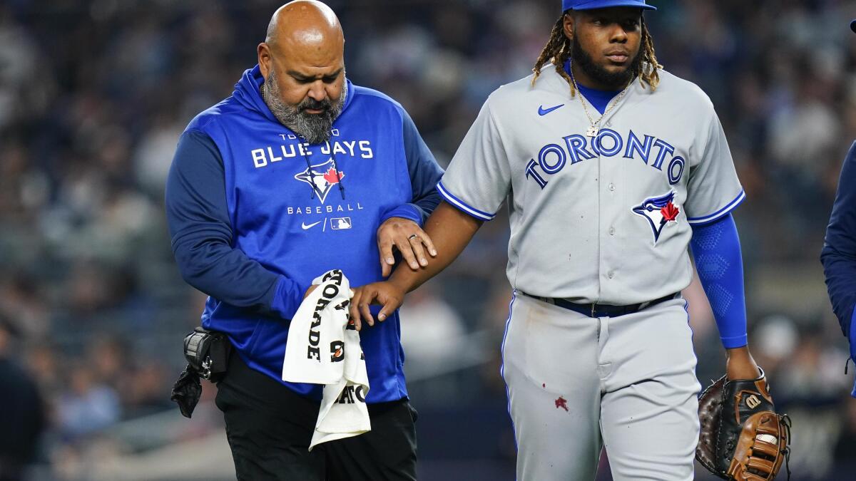
{"label": "hand with dark ring resting on the player's forearm", "polygon": [[437,249],[431,242],[431,237],[419,228],[418,223],[401,217],[389,217],[377,228],[377,251],[380,252],[380,268],[384,277],[392,272],[395,258],[392,257],[392,247],[395,246],[412,270],[419,266],[428,265],[425,250],[431,257],[437,256]]}

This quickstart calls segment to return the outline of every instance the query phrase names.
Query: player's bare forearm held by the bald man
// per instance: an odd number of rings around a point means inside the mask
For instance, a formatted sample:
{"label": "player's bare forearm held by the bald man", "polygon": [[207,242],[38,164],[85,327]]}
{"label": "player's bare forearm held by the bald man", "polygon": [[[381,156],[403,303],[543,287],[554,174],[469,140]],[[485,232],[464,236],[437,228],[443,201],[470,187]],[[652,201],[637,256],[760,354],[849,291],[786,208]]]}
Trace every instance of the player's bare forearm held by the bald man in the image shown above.
{"label": "player's bare forearm held by the bald man", "polygon": [[431,258],[428,265],[419,270],[412,270],[407,265],[401,265],[389,282],[394,283],[405,292],[418,288],[431,277],[436,276],[457,258],[473,239],[482,221],[459,211],[455,207],[441,203],[425,221],[425,232],[431,236],[431,241],[437,248],[437,257]]}

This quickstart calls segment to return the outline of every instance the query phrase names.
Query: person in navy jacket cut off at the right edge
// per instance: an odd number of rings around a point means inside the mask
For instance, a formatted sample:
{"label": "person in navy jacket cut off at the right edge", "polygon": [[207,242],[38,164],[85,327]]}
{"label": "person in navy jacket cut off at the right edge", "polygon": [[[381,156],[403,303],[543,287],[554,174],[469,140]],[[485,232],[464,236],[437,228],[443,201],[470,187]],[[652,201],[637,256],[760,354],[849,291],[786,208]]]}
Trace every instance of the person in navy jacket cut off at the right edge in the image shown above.
{"label": "person in navy jacket cut off at the right edge", "polygon": [[[850,28],[856,33],[856,20],[850,22]],[[826,288],[829,300],[841,332],[850,342],[850,359],[856,361],[856,142],[847,152],[841,166],[841,178],[835,204],[826,229],[826,240],[820,254],[823,273],[826,275]],[[856,384],[853,385],[853,397],[856,397]]]}

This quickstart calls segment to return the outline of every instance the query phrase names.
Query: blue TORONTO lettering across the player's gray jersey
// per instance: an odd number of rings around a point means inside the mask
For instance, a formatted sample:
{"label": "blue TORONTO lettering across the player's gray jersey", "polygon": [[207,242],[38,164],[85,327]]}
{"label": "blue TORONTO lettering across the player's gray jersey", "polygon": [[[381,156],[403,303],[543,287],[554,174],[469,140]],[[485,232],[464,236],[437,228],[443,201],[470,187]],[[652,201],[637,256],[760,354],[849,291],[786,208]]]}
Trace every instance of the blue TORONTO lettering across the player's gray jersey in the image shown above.
{"label": "blue TORONTO lettering across the player's gray jersey", "polygon": [[562,140],[563,145],[544,145],[538,152],[538,160],[532,158],[526,164],[526,178],[538,182],[538,186],[542,189],[548,182],[544,178],[545,175],[559,173],[568,164],[568,160],[573,165],[598,156],[615,157],[623,152],[624,158],[638,156],[652,168],[663,170],[666,157],[672,156],[666,164],[665,172],[669,176],[669,184],[673,186],[681,181],[684,165],[687,163],[684,157],[674,155],[675,147],[669,145],[669,142],[651,135],[643,135],[643,139],[640,140],[633,130],[627,134],[627,140],[609,128],[602,128],[593,139],[573,134],[562,137]]}

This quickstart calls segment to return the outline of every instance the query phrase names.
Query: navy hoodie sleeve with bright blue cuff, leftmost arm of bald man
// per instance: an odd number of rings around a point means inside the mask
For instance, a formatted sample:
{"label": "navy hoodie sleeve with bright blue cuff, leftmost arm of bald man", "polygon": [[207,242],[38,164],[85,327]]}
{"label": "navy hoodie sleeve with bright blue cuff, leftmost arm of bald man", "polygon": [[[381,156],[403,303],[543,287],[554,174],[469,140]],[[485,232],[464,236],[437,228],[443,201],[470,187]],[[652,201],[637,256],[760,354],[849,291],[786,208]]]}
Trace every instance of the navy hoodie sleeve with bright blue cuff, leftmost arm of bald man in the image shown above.
{"label": "navy hoodie sleeve with bright blue cuff, leftmost arm of bald man", "polygon": [[166,215],[184,280],[211,297],[290,319],[305,289],[232,246],[223,158],[207,135],[181,135],[166,182]]}

